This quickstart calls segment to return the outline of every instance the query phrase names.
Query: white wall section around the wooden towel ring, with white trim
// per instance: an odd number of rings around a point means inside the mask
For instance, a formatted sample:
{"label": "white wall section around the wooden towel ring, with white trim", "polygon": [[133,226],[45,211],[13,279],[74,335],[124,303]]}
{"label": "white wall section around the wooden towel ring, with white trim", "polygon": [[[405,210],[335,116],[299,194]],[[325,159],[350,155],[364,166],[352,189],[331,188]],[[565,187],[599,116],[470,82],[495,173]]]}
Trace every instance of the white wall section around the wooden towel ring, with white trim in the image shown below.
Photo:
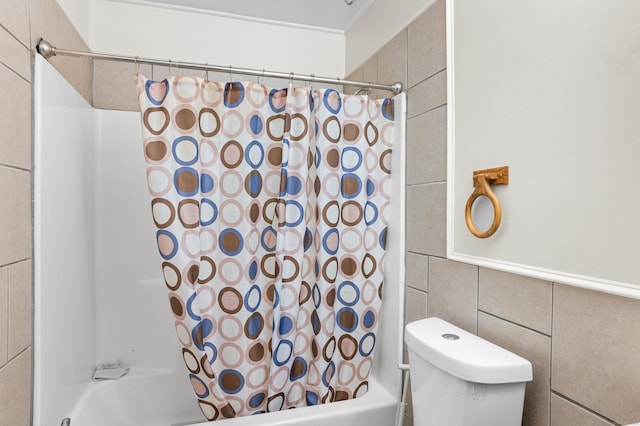
{"label": "white wall section around the wooden towel ring, with white trim", "polygon": [[[451,3],[449,257],[640,298],[640,3]],[[502,165],[475,238],[473,171]]]}

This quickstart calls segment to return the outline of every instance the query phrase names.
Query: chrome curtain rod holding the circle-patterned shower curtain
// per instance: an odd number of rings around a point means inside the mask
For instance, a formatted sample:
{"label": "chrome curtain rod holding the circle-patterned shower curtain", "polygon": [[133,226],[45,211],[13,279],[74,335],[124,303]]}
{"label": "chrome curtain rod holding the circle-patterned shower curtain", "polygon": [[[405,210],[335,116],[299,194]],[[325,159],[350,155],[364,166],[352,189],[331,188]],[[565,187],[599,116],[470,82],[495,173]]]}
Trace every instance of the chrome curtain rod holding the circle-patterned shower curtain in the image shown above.
{"label": "chrome curtain rod holding the circle-patterned shower curtain", "polygon": [[201,64],[196,62],[179,62],[165,59],[154,59],[154,58],[142,58],[138,56],[124,56],[124,55],[112,55],[109,53],[98,53],[98,52],[80,52],[76,50],[66,50],[59,49],[48,41],[44,39],[40,39],[40,42],[37,46],[38,53],[42,55],[45,59],[49,59],[53,56],[72,56],[75,58],[85,58],[85,59],[102,59],[106,61],[118,61],[118,62],[133,62],[137,64],[150,64],[150,65],[164,65],[167,67],[176,67],[176,68],[187,68],[193,70],[202,70],[202,71],[219,71],[226,72],[231,74],[244,74],[244,75],[255,75],[260,77],[275,77],[275,78],[287,78],[290,80],[301,80],[301,81],[310,81],[313,83],[327,83],[327,84],[349,84],[352,86],[358,86],[360,88],[366,89],[381,89],[388,90],[393,94],[398,94],[402,92],[402,83],[396,82],[393,84],[380,84],[380,83],[371,83],[364,81],[353,81],[353,80],[342,80],[340,78],[327,78],[327,77],[318,77],[315,75],[304,75],[304,74],[294,74],[292,72],[277,72],[277,71],[265,71],[265,70],[256,70],[251,68],[234,68],[231,66],[222,66],[222,65],[209,65],[209,64]]}

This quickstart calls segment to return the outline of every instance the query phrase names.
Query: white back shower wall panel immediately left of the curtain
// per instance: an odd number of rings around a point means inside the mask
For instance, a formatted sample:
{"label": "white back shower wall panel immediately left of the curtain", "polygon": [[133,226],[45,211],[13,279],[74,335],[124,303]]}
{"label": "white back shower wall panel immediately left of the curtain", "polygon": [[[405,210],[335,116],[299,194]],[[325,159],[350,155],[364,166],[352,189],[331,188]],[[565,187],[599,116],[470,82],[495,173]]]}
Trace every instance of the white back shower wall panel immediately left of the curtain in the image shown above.
{"label": "white back shower wall panel immediately left of the curtain", "polygon": [[151,219],[140,114],[95,115],[97,361],[182,368]]}

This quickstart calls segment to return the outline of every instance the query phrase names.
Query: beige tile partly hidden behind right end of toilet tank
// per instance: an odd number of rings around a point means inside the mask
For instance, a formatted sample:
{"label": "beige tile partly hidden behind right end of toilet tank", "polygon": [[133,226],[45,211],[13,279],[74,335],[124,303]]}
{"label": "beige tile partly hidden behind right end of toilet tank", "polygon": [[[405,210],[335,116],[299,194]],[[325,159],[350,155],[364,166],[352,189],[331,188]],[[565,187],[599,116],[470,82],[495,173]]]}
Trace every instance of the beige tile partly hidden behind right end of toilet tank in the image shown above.
{"label": "beige tile partly hidden behind right end of toilet tank", "polygon": [[478,335],[531,362],[533,381],[527,383],[522,424],[548,425],[551,338],[482,312],[478,313]]}

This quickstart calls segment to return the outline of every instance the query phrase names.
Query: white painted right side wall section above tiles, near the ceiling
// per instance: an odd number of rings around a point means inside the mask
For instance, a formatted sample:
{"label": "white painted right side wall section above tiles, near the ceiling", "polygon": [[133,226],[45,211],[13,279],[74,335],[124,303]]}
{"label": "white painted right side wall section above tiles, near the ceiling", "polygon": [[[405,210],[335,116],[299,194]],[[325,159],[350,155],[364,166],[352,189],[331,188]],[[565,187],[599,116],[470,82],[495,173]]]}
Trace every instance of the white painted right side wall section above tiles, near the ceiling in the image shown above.
{"label": "white painted right side wall section above tiles, near the ceiling", "polygon": [[346,35],[346,74],[362,65],[434,2],[435,0],[376,1]]}

